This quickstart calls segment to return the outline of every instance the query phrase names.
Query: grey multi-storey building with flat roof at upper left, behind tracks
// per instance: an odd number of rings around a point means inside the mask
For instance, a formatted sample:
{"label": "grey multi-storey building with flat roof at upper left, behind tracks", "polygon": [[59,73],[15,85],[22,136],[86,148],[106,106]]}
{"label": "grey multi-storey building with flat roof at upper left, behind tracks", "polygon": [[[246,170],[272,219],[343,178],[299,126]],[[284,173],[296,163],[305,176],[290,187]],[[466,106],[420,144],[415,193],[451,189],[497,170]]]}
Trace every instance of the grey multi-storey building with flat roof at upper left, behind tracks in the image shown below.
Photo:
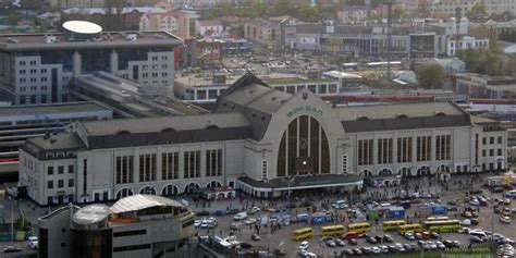
{"label": "grey multi-storey building with flat roof at upper left, behind tracks", "polygon": [[163,32],[1,35],[0,90],[14,105],[65,102],[72,77],[97,71],[172,90],[180,44]]}

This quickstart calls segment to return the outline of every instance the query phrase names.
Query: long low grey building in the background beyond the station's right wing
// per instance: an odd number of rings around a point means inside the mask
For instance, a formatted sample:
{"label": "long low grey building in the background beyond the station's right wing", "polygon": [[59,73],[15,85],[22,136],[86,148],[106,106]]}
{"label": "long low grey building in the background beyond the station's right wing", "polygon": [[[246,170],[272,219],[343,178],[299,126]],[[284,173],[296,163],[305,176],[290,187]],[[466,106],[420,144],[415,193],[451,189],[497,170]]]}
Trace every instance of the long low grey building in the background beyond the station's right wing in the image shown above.
{"label": "long low grey building in the background beyond the station's right wing", "polygon": [[[417,30],[409,24],[395,24],[391,29],[392,57],[434,58],[445,52],[442,28],[427,26]],[[382,56],[389,49],[388,32],[386,24],[285,25],[284,45],[296,50]]]}

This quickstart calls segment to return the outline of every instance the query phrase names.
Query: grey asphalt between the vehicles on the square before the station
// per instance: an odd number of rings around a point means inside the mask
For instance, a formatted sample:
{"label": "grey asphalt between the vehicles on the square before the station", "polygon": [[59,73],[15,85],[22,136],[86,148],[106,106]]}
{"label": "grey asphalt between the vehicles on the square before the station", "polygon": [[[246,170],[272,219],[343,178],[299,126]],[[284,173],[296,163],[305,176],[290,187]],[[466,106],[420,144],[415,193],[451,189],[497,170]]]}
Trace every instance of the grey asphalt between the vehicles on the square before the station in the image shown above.
{"label": "grey asphalt between the vehicles on the square before the station", "polygon": [[[409,184],[411,184],[411,185],[416,185],[416,184],[426,185],[427,187],[425,187],[423,191],[426,191],[426,193],[429,193],[429,194],[439,194],[439,200],[442,204],[446,204],[447,201],[452,201],[452,200],[457,201],[457,205],[455,207],[458,209],[458,211],[456,211],[456,212],[455,211],[449,211],[446,216],[451,217],[452,219],[456,218],[458,220],[464,220],[464,218],[459,213],[465,207],[470,207],[470,205],[463,202],[463,197],[466,196],[466,194],[464,192],[464,188],[466,186],[465,185],[460,186],[458,184],[457,185],[453,184],[453,182],[456,182],[458,180],[464,182],[466,180],[466,177],[465,176],[453,177],[451,183],[449,183],[449,191],[447,192],[444,189],[444,187],[442,187],[440,185],[435,185],[435,184],[428,187],[429,183],[432,180],[419,180],[419,181],[416,181],[416,182],[410,182]],[[489,204],[486,207],[482,207],[482,206],[475,207],[475,208],[479,209],[479,222],[480,223],[478,225],[474,225],[474,226],[469,226],[469,228],[470,229],[483,229],[484,231],[493,231],[495,233],[503,234],[503,235],[505,235],[505,236],[507,236],[512,239],[516,239],[516,230],[515,230],[516,229],[516,226],[515,226],[516,221],[513,219],[513,222],[511,224],[503,224],[499,221],[499,218],[500,218],[499,214],[495,214],[493,212],[493,205],[492,205],[493,199],[494,198],[501,199],[502,194],[501,193],[500,194],[492,194],[488,189],[481,188],[481,185],[482,185],[482,181],[478,180],[477,182],[474,182],[472,185],[468,185],[468,189],[482,189],[482,194],[484,196],[491,198],[491,200],[488,201]],[[469,186],[471,186],[471,187],[469,187]],[[388,191],[389,195],[391,196],[390,191],[392,191],[392,189]],[[373,188],[373,189],[369,191],[368,195],[370,195],[371,192],[384,193],[384,189],[383,188]],[[320,207],[320,204],[323,202],[323,201],[333,201],[333,200],[336,200],[336,199],[340,199],[340,198],[335,197],[335,196],[327,196],[327,197],[320,198],[320,200],[318,200],[318,201],[312,201],[312,204]],[[420,201],[421,201],[420,204],[413,204],[411,207],[408,210],[406,210],[406,214],[408,214],[408,219],[411,220],[415,223],[418,223],[418,221],[425,221],[425,219],[426,219],[425,217],[414,218],[414,212],[417,210],[417,207],[419,205],[422,205],[425,202],[435,201],[435,200],[437,199],[420,199]],[[514,200],[514,201],[516,201],[516,200]],[[258,207],[260,207],[262,205],[262,202],[260,200],[253,200],[253,199],[246,199],[246,200],[243,200],[243,201],[241,201],[238,199],[218,200],[218,201],[211,202],[209,207],[207,206],[207,204],[205,204],[205,207],[202,207],[202,205],[198,204],[198,207],[194,206],[194,210],[196,210],[196,211],[206,210],[206,211],[210,211],[210,212],[213,212],[216,210],[222,210],[223,211],[228,208],[230,208],[230,209],[231,208],[237,208],[237,209],[242,210],[242,209],[245,209],[246,205],[247,205],[247,207],[250,207],[253,205],[253,202],[255,204],[255,206],[258,206]],[[281,207],[282,205],[285,205],[285,204],[286,204],[286,201],[277,201],[275,205],[278,207]],[[263,202],[263,205],[267,206],[267,202]],[[452,207],[452,206],[450,206],[450,207]],[[512,204],[508,207],[514,208],[516,206],[515,206],[515,204]],[[332,210],[332,209],[330,209],[330,210]],[[306,208],[296,208],[296,209],[288,210],[285,213],[290,213],[291,216],[295,216],[296,213],[305,213],[306,211],[307,211]],[[258,212],[256,214],[249,214],[248,218],[258,219],[261,216],[267,216],[267,213],[269,213],[269,212],[261,211],[261,212]],[[293,223],[293,224],[290,224],[290,225],[282,226],[281,230],[274,230],[273,232],[270,233],[270,235],[268,234],[267,228],[261,228],[261,230],[259,232],[261,241],[255,242],[255,241],[251,239],[250,236],[251,236],[253,233],[256,233],[256,230],[253,226],[245,225],[244,221],[234,221],[232,214],[221,216],[221,217],[216,217],[216,216],[209,216],[209,217],[214,217],[217,219],[218,226],[213,230],[197,228],[197,232],[198,232],[199,235],[214,234],[214,235],[219,235],[219,236],[222,236],[222,237],[226,237],[226,236],[230,235],[230,232],[232,232],[230,230],[231,224],[236,223],[238,230],[234,230],[233,232],[234,232],[234,235],[236,236],[237,241],[246,242],[246,243],[253,244],[254,246],[261,247],[263,249],[269,249],[269,248],[271,250],[283,249],[283,250],[287,251],[287,257],[297,257],[297,248],[298,248],[298,245],[300,243],[300,242],[294,242],[294,241],[291,239],[292,232],[296,229],[307,226],[305,223]],[[201,219],[201,218],[199,217],[198,219]],[[312,226],[315,233],[317,234],[317,233],[320,232],[320,226],[321,225],[329,225],[329,224],[331,225],[331,224],[335,224],[335,223],[337,223],[337,224],[347,224],[347,221],[348,220],[345,220],[344,223],[334,222],[334,223],[308,225],[308,226]],[[383,232],[382,229],[381,229],[381,221],[379,221],[379,223],[374,223],[374,221],[369,221],[369,222],[372,224],[372,232],[371,232],[372,235],[389,234],[394,238],[394,243],[402,243],[402,244],[417,243],[417,241],[408,241],[408,239],[404,238],[396,231],[394,231],[394,232]],[[467,247],[470,244],[469,243],[469,235],[468,234],[459,234],[459,233],[442,233],[440,239],[430,239],[430,241],[433,241],[433,242],[441,241],[442,242],[442,241],[445,241],[445,239],[459,241],[463,247]],[[314,236],[314,237],[311,237],[307,241],[310,244],[310,246],[308,248],[309,251],[315,253],[317,255],[323,255],[323,256],[334,256],[335,254],[340,254],[341,250],[344,250],[346,248],[359,248],[359,247],[365,247],[365,246],[370,246],[370,247],[381,246],[381,244],[376,244],[376,245],[369,244],[364,238],[358,239],[358,245],[357,246],[349,246],[346,243],[346,245],[344,247],[336,247],[336,248],[327,247],[323,243],[321,243],[320,237],[318,237],[318,236]],[[394,243],[383,244],[383,245],[393,245]]]}

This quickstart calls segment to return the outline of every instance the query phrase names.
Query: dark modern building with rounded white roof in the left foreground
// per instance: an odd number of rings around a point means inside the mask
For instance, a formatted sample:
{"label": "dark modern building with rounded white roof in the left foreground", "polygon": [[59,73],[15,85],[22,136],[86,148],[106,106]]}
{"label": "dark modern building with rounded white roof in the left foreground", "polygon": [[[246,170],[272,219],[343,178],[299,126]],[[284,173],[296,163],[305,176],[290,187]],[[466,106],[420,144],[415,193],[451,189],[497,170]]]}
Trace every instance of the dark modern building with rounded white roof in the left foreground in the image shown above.
{"label": "dark modern building with rounded white roof in the left foreground", "polygon": [[113,206],[70,205],[38,219],[38,255],[52,257],[187,257],[179,247],[194,234],[194,212],[152,195]]}

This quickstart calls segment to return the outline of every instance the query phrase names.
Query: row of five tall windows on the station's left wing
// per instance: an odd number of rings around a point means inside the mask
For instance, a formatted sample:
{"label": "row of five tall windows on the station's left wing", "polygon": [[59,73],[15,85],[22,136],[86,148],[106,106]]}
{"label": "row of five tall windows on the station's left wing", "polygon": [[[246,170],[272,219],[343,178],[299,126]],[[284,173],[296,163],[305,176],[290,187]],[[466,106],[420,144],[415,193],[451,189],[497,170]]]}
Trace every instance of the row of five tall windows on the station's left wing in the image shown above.
{"label": "row of five tall windows on the station's left wing", "polygon": [[[140,155],[139,182],[151,182],[158,179],[157,155]],[[184,179],[200,177],[200,150],[185,151],[183,155]],[[206,150],[206,176],[222,175],[222,149]],[[134,183],[134,156],[119,156],[115,158],[115,183]],[[161,153],[161,180],[180,179],[180,153]]]}

